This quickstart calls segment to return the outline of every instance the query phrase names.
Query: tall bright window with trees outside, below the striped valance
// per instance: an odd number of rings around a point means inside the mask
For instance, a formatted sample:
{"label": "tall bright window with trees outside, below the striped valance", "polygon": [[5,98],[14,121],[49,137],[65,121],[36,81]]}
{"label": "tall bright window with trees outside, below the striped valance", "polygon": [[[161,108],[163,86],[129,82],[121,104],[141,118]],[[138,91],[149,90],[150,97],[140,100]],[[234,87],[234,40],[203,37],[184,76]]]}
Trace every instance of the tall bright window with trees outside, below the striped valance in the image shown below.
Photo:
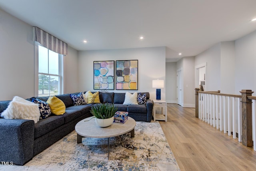
{"label": "tall bright window with trees outside, below the striped valance", "polygon": [[63,94],[63,55],[38,44],[38,96]]}

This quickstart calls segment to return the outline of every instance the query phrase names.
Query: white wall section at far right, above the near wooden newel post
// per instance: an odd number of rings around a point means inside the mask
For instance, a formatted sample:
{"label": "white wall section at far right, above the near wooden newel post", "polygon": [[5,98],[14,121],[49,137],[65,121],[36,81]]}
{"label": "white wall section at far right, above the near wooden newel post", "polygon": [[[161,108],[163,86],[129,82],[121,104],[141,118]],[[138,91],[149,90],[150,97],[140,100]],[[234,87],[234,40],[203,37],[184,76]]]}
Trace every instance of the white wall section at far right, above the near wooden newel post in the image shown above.
{"label": "white wall section at far right, above the near wooden newel post", "polygon": [[256,92],[256,31],[236,40],[235,48],[235,93],[240,94],[242,89]]}

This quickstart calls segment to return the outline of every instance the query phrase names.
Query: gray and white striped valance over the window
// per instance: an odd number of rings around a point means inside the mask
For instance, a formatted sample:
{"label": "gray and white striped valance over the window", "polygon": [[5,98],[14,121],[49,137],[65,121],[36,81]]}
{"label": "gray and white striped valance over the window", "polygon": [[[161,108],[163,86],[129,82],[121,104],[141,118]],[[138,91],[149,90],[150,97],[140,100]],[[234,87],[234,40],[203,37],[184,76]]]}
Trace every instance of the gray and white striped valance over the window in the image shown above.
{"label": "gray and white striped valance over the window", "polygon": [[44,30],[41,30],[38,27],[33,27],[33,36],[34,36],[34,41],[40,43],[45,48],[53,52],[56,52],[58,54],[62,54],[62,55],[68,54],[68,44],[48,34]]}

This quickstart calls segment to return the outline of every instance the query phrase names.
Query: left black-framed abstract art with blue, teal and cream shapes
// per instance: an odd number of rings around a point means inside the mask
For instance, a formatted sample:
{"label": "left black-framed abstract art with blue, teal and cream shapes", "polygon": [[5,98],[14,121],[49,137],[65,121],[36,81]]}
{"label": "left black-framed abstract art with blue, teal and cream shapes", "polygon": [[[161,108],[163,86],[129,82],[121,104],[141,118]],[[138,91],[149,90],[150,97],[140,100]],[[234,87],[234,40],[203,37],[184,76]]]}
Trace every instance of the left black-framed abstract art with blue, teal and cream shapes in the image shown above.
{"label": "left black-framed abstract art with blue, teal and cream shapes", "polygon": [[93,89],[114,89],[114,61],[94,61],[93,65]]}

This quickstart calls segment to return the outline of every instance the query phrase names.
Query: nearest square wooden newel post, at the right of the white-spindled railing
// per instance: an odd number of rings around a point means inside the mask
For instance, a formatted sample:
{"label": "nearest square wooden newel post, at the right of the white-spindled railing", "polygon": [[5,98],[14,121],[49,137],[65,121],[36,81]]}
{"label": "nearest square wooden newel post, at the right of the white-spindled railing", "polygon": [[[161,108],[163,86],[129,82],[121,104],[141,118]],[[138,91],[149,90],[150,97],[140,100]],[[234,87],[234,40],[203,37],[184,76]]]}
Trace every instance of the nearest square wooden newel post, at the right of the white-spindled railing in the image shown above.
{"label": "nearest square wooden newel post, at the right of the white-spindled railing", "polygon": [[251,96],[254,91],[242,89],[242,143],[247,147],[252,147],[252,100]]}

